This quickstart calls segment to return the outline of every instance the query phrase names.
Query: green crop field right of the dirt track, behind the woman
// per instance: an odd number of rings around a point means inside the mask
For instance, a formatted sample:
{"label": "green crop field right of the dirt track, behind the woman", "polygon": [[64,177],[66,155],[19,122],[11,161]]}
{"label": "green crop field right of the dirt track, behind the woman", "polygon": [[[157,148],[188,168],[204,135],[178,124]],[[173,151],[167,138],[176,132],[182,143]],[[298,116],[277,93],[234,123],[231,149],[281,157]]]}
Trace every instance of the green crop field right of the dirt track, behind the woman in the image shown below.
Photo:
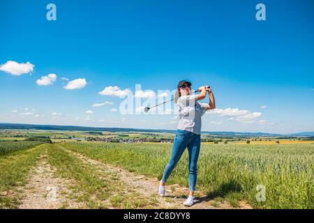
{"label": "green crop field right of the dirt track, behind the woman", "polygon": [[[161,178],[170,157],[167,144],[66,143],[66,148],[147,176]],[[168,183],[188,186],[185,152]],[[204,144],[198,163],[198,189],[237,206],[246,200],[255,208],[314,208],[313,144]],[[266,201],[256,200],[256,186]]]}

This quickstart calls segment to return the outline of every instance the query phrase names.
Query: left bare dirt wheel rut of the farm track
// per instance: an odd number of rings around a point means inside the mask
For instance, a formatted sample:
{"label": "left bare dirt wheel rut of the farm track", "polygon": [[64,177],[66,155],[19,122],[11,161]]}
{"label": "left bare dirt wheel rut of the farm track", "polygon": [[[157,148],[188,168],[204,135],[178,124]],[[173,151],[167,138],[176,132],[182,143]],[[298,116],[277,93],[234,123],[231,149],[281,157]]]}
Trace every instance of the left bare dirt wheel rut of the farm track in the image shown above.
{"label": "left bare dirt wheel rut of the farm track", "polygon": [[64,178],[55,178],[55,169],[47,162],[47,153],[38,157],[38,165],[27,180],[27,185],[16,188],[23,192],[20,209],[57,209],[78,208],[79,204],[67,199],[70,182]]}

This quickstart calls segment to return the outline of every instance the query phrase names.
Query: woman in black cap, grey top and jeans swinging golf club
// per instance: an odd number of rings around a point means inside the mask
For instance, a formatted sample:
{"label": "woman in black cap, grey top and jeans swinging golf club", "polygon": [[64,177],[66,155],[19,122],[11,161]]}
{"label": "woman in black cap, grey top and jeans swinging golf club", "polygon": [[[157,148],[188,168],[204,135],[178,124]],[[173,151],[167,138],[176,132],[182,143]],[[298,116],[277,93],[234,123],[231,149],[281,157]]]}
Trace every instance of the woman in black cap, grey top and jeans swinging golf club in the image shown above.
{"label": "woman in black cap, grey top and jeans swinging golf club", "polygon": [[[215,99],[209,86],[201,86],[198,95],[192,95],[190,89],[190,82],[182,80],[177,86],[177,93],[174,101],[177,102],[179,107],[179,124],[177,134],[174,137],[172,145],[172,153],[170,161],[165,167],[163,178],[160,180],[159,195],[165,195],[165,182],[169,178],[174,167],[180,160],[181,155],[184,153],[186,147],[188,148],[188,185],[190,194],[188,199],[184,202],[186,206],[192,206],[194,203],[194,191],[197,180],[197,160],[200,154],[201,143],[201,117],[208,109],[214,109]],[[209,103],[199,103],[197,100],[206,98],[207,92],[209,93]]]}

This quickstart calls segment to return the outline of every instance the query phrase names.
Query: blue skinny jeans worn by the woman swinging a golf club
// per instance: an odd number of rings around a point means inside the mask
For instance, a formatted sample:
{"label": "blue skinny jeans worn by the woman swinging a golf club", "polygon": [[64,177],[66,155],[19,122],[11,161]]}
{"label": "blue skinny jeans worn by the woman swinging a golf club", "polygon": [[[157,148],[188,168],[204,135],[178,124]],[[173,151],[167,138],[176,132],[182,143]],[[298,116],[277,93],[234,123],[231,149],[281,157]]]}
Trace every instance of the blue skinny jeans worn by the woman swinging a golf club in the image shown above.
{"label": "blue skinny jeans worn by the woman swinging a golf club", "polygon": [[200,155],[200,134],[188,132],[184,130],[177,130],[174,142],[172,145],[172,153],[169,163],[165,167],[163,172],[163,182],[167,181],[172,170],[176,167],[179,162],[181,155],[188,147],[188,185],[190,191],[195,191],[195,185],[197,180],[197,160]]}

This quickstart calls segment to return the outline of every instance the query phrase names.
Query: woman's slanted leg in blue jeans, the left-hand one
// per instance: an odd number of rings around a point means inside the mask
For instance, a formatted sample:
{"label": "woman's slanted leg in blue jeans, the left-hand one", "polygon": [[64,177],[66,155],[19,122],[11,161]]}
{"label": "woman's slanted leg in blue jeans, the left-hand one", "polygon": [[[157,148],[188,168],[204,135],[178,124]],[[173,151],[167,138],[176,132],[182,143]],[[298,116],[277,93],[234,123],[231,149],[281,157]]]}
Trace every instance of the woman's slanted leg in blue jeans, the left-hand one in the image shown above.
{"label": "woman's slanted leg in blue jeans, the left-hand one", "polygon": [[170,160],[165,167],[165,171],[163,171],[163,178],[161,179],[161,185],[165,185],[167,178],[169,178],[170,174],[174,167],[176,167],[177,163],[180,160],[181,155],[184,153],[186,146],[188,145],[188,141],[190,141],[190,135],[192,132],[179,131],[174,137],[174,142],[172,145],[172,152]]}

